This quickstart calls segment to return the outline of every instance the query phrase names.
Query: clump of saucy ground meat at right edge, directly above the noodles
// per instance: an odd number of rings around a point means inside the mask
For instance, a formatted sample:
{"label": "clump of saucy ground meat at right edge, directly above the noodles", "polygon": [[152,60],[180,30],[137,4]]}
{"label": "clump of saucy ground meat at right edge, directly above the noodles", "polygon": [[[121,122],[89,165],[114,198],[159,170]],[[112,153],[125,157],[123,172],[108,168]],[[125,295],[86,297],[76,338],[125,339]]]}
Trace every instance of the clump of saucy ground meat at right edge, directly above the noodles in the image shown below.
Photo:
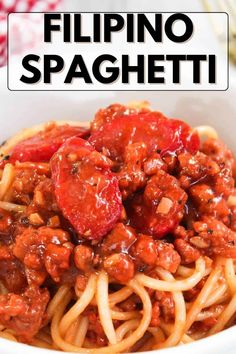
{"label": "clump of saucy ground meat at right edge, directly above the noodles", "polygon": [[208,247],[204,252],[209,255],[236,258],[236,233],[221,221],[212,217],[203,217],[193,224],[198,236]]}

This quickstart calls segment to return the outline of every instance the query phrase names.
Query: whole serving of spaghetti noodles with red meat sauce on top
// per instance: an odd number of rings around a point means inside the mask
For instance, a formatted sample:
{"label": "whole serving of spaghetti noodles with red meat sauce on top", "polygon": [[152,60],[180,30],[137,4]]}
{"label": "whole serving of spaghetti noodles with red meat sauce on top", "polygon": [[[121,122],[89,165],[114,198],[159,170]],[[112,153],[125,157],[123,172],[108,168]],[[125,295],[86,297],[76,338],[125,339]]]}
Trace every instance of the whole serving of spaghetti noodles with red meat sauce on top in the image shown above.
{"label": "whole serving of spaghetti noodles with red meat sauce on top", "polygon": [[0,337],[104,354],[235,324],[235,161],[214,128],[116,104],[0,154]]}

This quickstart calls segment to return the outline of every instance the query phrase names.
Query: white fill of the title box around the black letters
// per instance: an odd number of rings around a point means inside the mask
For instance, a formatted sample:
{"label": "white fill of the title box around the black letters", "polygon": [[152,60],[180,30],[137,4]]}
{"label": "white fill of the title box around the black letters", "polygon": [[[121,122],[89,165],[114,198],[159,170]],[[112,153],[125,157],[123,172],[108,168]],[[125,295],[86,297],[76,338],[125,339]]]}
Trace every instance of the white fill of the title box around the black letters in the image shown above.
{"label": "white fill of the title box around the black letters", "polygon": [[[163,23],[170,14],[163,14]],[[11,14],[9,16],[9,45],[11,51],[11,28],[14,25],[16,17],[24,16],[23,14]],[[38,16],[38,14],[31,14],[31,16]],[[150,14],[150,19],[153,14]],[[115,33],[113,43],[107,44],[81,44],[81,43],[63,43],[61,33],[53,34],[53,44],[44,43],[39,45],[36,49],[31,50],[31,53],[38,54],[42,57],[43,53],[52,53],[63,56],[65,61],[64,70],[59,74],[53,74],[51,84],[44,84],[41,80],[34,85],[24,84],[20,81],[22,74],[29,75],[22,67],[22,58],[25,54],[22,53],[18,57],[9,56],[9,88],[11,90],[225,90],[227,89],[227,52],[226,52],[226,14],[188,14],[194,24],[194,33],[191,39],[184,43],[173,43],[164,34],[163,42],[155,43],[150,36],[147,36],[145,43],[126,43],[125,29],[119,33]],[[92,32],[91,14],[83,14],[83,29],[85,34]],[[22,19],[23,20],[23,19]],[[221,42],[216,42],[215,46],[206,46],[206,42],[211,43],[212,32],[206,31],[205,23],[211,21],[217,23],[221,29]],[[43,29],[43,25],[38,24]],[[181,31],[180,22],[174,25],[176,33]],[[27,24],[25,27],[27,31]],[[183,28],[182,28],[183,31]],[[136,65],[137,54],[215,54],[217,56],[217,84],[208,84],[208,65],[202,63],[202,77],[201,84],[192,83],[192,62],[184,62],[181,64],[181,84],[172,84],[172,63],[160,62],[159,65],[165,66],[165,73],[158,74],[158,76],[165,77],[165,85],[163,84],[137,84],[136,74],[130,75],[129,84],[122,84],[121,78],[115,83],[104,85],[96,81],[92,76],[91,66],[94,59],[101,54],[109,53],[115,57],[120,58],[121,54],[130,55],[131,65]],[[74,79],[72,84],[64,84],[64,79],[71,64],[72,58],[75,54],[81,54],[84,57],[87,68],[90,72],[93,84],[85,84],[83,79]],[[109,63],[109,66],[113,64]],[[115,66],[120,66],[116,63]],[[40,71],[43,71],[43,62],[37,64]],[[105,70],[105,68],[104,68]],[[146,66],[147,74],[147,66]],[[146,75],[147,77],[147,75]]]}

